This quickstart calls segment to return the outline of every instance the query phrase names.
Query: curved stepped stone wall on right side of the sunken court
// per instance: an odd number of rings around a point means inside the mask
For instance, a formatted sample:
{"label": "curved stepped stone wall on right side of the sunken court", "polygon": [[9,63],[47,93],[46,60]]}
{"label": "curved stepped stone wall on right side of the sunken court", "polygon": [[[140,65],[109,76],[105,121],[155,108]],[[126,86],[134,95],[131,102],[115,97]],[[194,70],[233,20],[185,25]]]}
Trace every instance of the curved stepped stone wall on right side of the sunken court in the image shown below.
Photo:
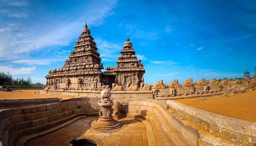
{"label": "curved stepped stone wall on right side of the sunken court", "polygon": [[168,108],[167,104],[154,99],[139,99],[129,102],[127,112],[151,123],[158,145],[203,146],[198,131],[182,124]]}

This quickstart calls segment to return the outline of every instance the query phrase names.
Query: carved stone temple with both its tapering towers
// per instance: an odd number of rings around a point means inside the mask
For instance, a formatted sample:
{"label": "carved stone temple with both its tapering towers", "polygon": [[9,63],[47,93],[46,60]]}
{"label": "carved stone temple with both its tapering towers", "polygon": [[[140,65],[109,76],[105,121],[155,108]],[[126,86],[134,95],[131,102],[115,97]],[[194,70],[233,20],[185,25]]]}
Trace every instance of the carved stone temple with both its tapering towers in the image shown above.
{"label": "carved stone temple with both its tapering towers", "polygon": [[102,90],[120,85],[129,88],[140,86],[144,82],[142,61],[137,59],[132,43],[127,38],[118,56],[117,67],[106,66],[106,72],[101,72],[103,64],[91,31],[85,24],[82,34],[78,37],[63,67],[49,71],[46,76],[45,90]]}

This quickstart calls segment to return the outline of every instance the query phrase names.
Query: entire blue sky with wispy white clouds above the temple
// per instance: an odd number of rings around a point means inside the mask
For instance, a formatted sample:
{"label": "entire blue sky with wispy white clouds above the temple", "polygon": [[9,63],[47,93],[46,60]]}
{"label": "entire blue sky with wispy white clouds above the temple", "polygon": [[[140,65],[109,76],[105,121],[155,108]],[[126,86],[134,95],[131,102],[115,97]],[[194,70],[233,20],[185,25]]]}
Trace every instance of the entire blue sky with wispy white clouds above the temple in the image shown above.
{"label": "entire blue sky with wispy white clouds above the temple", "polygon": [[85,21],[104,67],[116,66],[129,37],[148,84],[242,77],[256,66],[254,0],[0,0],[0,71],[45,83]]}

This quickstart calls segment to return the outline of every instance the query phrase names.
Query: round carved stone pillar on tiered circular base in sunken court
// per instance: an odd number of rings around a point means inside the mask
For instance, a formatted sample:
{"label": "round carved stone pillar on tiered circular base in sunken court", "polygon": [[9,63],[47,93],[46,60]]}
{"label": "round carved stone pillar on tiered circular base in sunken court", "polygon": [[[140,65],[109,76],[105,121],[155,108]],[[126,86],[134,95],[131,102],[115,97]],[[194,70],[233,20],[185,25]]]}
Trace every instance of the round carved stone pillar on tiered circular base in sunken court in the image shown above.
{"label": "round carved stone pillar on tiered circular base in sunken court", "polygon": [[99,119],[93,121],[91,127],[103,130],[120,128],[122,123],[119,123],[112,117],[112,105],[114,105],[114,103],[109,98],[111,97],[109,89],[102,90],[101,97],[101,100],[98,102],[98,105],[101,106],[101,109],[99,110]]}

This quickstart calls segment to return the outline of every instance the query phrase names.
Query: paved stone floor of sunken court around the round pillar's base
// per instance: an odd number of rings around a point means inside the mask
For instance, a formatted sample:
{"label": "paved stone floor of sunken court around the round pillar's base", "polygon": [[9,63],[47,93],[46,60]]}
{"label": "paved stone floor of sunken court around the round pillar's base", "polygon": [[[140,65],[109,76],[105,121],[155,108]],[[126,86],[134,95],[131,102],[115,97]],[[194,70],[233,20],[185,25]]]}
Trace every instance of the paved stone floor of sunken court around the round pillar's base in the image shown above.
{"label": "paved stone floor of sunken court around the round pillar's base", "polygon": [[113,130],[98,130],[90,123],[98,117],[80,119],[60,130],[28,141],[25,146],[71,146],[73,139],[93,139],[98,146],[148,146],[144,123],[132,117],[120,119],[123,126]]}

